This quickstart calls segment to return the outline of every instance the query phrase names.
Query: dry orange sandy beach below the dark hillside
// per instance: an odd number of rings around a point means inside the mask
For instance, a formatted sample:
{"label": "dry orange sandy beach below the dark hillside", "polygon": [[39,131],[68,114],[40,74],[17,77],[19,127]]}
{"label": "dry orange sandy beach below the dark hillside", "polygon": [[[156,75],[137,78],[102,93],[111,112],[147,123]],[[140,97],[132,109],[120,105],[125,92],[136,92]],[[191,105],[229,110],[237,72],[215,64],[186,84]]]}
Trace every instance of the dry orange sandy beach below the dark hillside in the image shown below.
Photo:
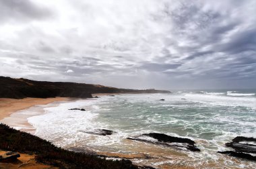
{"label": "dry orange sandy beach below the dark hillside", "polygon": [[55,98],[25,98],[25,99],[9,99],[0,98],[0,120],[5,117],[9,117],[11,113],[22,109],[28,109],[34,105],[46,105],[55,101],[68,101],[66,97],[55,97]]}

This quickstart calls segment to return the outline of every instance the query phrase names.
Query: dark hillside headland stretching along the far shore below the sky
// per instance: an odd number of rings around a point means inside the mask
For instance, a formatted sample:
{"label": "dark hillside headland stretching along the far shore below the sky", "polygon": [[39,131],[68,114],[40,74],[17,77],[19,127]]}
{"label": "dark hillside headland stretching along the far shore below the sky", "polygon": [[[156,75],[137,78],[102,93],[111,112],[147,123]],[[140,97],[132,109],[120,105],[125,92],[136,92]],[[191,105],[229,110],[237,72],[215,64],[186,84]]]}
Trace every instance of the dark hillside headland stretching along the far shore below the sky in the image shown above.
{"label": "dark hillside headland stretching along the far shore below the sky", "polygon": [[26,78],[0,76],[0,98],[22,99],[26,97],[77,97],[91,98],[93,93],[170,93],[155,89],[134,90],[105,87],[76,82],[46,82]]}

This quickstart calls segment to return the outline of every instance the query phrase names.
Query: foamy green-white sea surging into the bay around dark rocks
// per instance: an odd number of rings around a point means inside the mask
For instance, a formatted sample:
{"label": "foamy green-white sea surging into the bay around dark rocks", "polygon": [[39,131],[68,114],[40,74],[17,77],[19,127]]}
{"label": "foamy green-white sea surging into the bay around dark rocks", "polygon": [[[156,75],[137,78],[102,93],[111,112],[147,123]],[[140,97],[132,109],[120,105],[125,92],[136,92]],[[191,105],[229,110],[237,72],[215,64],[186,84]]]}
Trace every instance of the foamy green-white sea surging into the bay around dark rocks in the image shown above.
{"label": "foamy green-white sea surging into the bay around dark rocks", "polygon": [[[73,108],[86,111],[69,110]],[[105,95],[18,113],[30,115],[35,135],[69,150],[127,156],[135,164],[156,168],[256,168],[255,162],[217,153],[231,150],[224,144],[238,135],[256,137],[256,90]],[[114,133],[93,134],[98,129]],[[201,152],[127,139],[152,132],[192,139]]]}

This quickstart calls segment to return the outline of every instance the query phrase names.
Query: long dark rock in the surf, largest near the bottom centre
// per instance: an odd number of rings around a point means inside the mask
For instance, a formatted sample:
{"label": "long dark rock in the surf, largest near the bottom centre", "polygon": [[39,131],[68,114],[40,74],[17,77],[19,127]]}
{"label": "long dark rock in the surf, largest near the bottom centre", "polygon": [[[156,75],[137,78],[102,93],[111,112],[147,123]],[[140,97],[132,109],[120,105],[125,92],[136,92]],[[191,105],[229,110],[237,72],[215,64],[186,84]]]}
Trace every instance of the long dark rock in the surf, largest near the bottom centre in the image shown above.
{"label": "long dark rock in the surf, largest near the bottom centre", "polygon": [[[157,141],[154,141],[147,137],[152,137],[154,139],[157,139]],[[192,152],[200,152],[199,148],[195,146],[195,142],[193,140],[182,137],[172,137],[164,133],[145,133],[137,137],[127,137],[127,139],[151,144],[158,144],[167,147],[186,148],[187,150],[190,150]]]}

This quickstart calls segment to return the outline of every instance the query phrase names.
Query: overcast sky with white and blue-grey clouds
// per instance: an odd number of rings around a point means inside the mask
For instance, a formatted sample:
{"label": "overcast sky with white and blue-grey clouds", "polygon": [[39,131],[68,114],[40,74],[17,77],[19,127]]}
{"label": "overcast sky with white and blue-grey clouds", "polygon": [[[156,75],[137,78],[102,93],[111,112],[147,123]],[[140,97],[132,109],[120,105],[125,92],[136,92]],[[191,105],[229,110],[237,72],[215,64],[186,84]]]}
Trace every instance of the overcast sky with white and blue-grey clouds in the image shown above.
{"label": "overcast sky with white and blue-grey clouds", "polygon": [[256,88],[254,0],[0,0],[0,76]]}

